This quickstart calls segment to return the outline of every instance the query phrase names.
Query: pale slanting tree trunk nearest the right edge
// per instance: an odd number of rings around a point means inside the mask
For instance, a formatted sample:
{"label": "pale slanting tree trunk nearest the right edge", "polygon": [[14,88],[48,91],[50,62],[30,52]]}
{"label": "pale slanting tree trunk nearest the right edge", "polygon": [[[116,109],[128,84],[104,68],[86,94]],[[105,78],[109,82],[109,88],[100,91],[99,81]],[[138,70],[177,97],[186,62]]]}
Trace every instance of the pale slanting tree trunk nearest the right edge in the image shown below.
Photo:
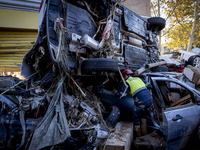
{"label": "pale slanting tree trunk nearest the right edge", "polygon": [[193,25],[192,25],[192,31],[191,31],[191,34],[189,36],[189,42],[188,42],[188,47],[187,47],[187,51],[188,52],[190,52],[191,49],[192,49],[194,33],[196,31],[196,28],[197,28],[197,23],[198,23],[198,12],[197,12],[198,5],[199,5],[199,0],[196,0],[196,4],[195,4],[195,7],[194,7],[194,22],[193,22]]}

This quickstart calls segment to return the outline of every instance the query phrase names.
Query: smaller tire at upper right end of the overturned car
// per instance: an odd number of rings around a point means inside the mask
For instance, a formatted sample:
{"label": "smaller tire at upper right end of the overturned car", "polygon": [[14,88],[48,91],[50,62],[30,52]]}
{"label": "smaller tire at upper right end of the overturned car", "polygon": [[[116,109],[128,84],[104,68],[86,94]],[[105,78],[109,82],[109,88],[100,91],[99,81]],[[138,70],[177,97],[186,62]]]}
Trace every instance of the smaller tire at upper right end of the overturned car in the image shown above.
{"label": "smaller tire at upper right end of the overturned car", "polygon": [[148,23],[149,23],[148,29],[152,31],[161,31],[162,29],[165,28],[165,19],[161,17],[148,18]]}

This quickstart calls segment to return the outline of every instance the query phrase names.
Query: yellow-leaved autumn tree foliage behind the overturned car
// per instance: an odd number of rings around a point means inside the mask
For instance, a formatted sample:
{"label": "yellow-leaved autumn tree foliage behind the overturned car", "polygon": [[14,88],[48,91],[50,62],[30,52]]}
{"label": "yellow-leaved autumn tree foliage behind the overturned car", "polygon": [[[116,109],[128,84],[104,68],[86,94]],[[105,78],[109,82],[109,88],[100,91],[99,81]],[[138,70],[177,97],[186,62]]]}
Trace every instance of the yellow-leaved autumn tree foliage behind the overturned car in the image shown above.
{"label": "yellow-leaved autumn tree foliage behind the overturned car", "polygon": [[[152,5],[154,4],[155,11],[155,0],[151,2]],[[187,46],[187,50],[191,51],[192,44],[198,45],[199,2],[200,0],[160,0],[162,13],[167,23],[162,36],[165,36],[168,47]]]}

